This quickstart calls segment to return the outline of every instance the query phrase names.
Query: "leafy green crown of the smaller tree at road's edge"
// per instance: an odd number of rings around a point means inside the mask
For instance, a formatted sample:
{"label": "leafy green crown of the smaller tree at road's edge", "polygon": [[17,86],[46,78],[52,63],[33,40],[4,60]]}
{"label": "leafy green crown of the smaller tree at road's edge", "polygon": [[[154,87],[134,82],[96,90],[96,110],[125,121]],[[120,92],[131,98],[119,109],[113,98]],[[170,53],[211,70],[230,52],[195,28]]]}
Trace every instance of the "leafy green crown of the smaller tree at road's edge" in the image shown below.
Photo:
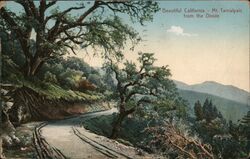
{"label": "leafy green crown of the smaller tree at road's edge", "polygon": [[153,53],[139,53],[139,66],[132,61],[122,63],[108,58],[104,68],[110,75],[108,80],[114,80],[110,81],[110,85],[113,83],[115,86],[113,99],[123,103],[126,110],[136,109],[140,116],[151,116],[149,114],[155,112],[157,107],[161,110],[163,105],[166,111],[179,108],[179,114],[185,112],[182,109],[185,104],[178,98],[175,84],[169,79],[171,73],[168,66],[154,66],[155,61]]}

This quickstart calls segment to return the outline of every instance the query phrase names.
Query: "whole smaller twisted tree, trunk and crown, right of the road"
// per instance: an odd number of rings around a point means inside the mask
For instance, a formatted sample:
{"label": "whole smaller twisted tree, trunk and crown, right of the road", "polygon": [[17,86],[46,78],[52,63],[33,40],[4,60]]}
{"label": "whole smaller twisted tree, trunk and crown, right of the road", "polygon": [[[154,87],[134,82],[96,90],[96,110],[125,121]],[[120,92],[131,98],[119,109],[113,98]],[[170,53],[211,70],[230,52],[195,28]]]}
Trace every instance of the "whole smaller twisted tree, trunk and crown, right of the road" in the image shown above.
{"label": "whole smaller twisted tree, trunk and crown, right of the road", "polygon": [[139,67],[134,62],[120,62],[110,59],[105,64],[108,74],[114,74],[116,90],[114,96],[118,99],[119,113],[114,121],[111,138],[119,134],[123,119],[136,111],[138,107],[145,109],[153,103],[162,102],[175,96],[175,85],[169,79],[170,70],[167,66],[154,66],[154,54],[139,53]]}

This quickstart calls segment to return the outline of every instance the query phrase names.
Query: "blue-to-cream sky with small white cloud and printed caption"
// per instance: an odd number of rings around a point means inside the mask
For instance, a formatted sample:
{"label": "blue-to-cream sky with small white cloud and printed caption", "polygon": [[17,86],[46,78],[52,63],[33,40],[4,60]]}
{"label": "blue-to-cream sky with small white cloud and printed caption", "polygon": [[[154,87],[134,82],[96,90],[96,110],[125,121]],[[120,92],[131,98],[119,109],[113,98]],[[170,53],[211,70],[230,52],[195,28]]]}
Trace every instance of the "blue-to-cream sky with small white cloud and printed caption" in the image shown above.
{"label": "blue-to-cream sky with small white cloud and printed caption", "polygon": [[[158,2],[161,10],[155,14],[153,22],[145,26],[132,24],[125,15],[121,16],[143,39],[134,52],[125,49],[126,58],[135,60],[139,51],[153,52],[158,59],[156,65],[169,65],[172,79],[187,84],[216,81],[249,91],[248,2]],[[74,3],[61,1],[59,4],[67,8]],[[12,3],[7,6],[18,10]],[[173,9],[181,12],[171,12]],[[203,17],[196,17],[194,10],[199,10]],[[213,18],[206,17],[207,14]],[[101,66],[100,58],[86,56],[84,50],[78,52],[77,56],[90,65]]]}

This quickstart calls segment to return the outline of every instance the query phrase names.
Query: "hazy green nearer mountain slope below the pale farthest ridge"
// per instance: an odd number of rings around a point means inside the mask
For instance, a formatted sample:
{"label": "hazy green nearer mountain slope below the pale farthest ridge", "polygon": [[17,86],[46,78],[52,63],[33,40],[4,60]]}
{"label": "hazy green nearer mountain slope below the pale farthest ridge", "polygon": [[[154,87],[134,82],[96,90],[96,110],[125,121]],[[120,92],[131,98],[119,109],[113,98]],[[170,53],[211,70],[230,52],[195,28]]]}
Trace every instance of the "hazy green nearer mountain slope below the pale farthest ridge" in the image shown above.
{"label": "hazy green nearer mountain slope below the pale farthest ridge", "polygon": [[222,113],[225,119],[232,120],[233,122],[237,122],[237,120],[241,119],[244,115],[246,115],[247,111],[250,110],[250,107],[247,104],[232,101],[226,98],[221,98],[207,93],[182,89],[179,89],[179,93],[183,99],[186,99],[188,101],[189,107],[192,108],[190,110],[191,112],[189,112],[191,115],[194,114],[194,103],[199,100],[203,104],[206,98],[212,100],[213,104]]}

